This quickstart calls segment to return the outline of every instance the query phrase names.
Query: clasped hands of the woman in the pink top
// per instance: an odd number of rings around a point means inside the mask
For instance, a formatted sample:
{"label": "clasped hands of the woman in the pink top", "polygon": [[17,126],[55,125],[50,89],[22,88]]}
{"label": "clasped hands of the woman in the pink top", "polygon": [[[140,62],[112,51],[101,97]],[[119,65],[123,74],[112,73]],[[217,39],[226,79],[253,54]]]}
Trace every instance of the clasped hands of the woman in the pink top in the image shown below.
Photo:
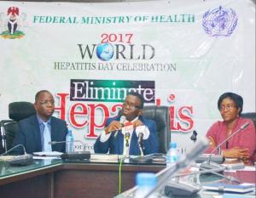
{"label": "clasped hands of the woman in the pink top", "polygon": [[248,150],[241,149],[240,147],[234,147],[230,150],[223,150],[224,157],[238,158],[243,161],[247,161],[249,158]]}

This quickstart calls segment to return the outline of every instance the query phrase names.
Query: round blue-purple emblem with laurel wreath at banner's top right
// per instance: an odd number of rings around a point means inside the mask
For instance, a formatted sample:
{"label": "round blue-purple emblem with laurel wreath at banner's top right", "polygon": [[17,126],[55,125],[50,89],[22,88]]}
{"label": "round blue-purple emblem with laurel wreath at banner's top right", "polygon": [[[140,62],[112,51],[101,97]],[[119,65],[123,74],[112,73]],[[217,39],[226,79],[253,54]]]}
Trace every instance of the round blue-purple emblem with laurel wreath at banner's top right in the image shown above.
{"label": "round blue-purple emblem with laurel wreath at banner's top right", "polygon": [[212,37],[229,37],[236,29],[237,20],[236,12],[233,9],[219,6],[212,11],[208,10],[203,15],[202,26]]}

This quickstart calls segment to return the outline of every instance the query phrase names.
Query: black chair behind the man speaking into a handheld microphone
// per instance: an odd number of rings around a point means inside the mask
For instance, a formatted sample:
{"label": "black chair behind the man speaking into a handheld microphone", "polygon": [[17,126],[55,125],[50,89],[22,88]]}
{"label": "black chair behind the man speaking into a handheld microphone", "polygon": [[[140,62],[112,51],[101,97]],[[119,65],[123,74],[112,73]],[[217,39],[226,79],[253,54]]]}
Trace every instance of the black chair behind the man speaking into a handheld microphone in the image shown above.
{"label": "black chair behind the man speaking into a handheld microphone", "polygon": [[167,106],[144,106],[143,116],[156,122],[159,152],[166,154],[171,142],[170,113]]}

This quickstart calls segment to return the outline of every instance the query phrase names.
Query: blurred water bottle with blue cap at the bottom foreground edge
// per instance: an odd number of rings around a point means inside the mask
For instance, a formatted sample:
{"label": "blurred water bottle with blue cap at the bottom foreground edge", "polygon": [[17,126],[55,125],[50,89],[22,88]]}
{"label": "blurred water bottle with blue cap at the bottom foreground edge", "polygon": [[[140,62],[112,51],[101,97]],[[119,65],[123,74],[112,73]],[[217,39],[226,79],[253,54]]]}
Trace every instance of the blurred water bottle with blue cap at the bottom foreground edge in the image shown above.
{"label": "blurred water bottle with blue cap at the bottom foreground edge", "polygon": [[[137,173],[136,176],[137,191],[134,198],[141,198],[148,194],[157,184],[157,178],[154,173]],[[154,192],[149,198],[157,198],[158,194]]]}

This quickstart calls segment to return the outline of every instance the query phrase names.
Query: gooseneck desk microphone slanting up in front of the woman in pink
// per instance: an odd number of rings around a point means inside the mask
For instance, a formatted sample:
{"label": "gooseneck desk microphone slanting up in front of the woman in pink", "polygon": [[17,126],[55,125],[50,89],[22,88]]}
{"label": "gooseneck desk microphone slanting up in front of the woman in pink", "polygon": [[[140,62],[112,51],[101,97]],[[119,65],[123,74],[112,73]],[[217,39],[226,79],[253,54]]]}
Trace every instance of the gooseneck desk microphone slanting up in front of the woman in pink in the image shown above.
{"label": "gooseneck desk microphone slanting up in front of the woman in pink", "polygon": [[212,158],[212,154],[218,150],[222,144],[224,144],[226,141],[228,141],[229,139],[231,139],[234,135],[236,135],[236,133],[239,133],[241,132],[241,130],[245,129],[250,123],[249,122],[246,122],[244,123],[235,133],[231,134],[230,137],[228,137],[227,139],[224,139],[224,141],[222,141],[220,144],[218,144],[214,150],[212,150],[212,152],[210,153],[210,156],[208,158],[208,161],[204,161],[203,163],[201,163],[201,167],[203,169],[212,169],[212,168],[218,168],[218,167],[222,167],[223,168],[223,171],[225,169],[224,166],[222,165],[219,165],[218,163],[215,163],[215,162],[211,162],[211,158]]}

